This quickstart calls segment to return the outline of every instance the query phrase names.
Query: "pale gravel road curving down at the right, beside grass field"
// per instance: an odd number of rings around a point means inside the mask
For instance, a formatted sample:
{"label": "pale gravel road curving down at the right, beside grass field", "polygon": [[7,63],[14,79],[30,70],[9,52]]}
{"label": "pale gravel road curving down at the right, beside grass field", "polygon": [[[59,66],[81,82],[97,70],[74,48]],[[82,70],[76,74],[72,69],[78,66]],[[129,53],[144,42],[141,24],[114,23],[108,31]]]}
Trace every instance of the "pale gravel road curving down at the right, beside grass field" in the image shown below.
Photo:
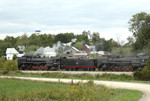
{"label": "pale gravel road curving down at the right, beside grass field", "polygon": [[[46,82],[63,82],[63,83],[86,83],[88,80],[73,80],[73,79],[53,79],[53,78],[33,78],[33,77],[14,77],[14,76],[0,76],[0,78],[8,79],[21,79],[21,80],[32,80],[32,81],[46,81]],[[97,85],[105,85],[110,88],[123,88],[139,90],[143,92],[143,96],[139,101],[150,101],[150,84],[144,83],[129,83],[129,82],[116,82],[116,81],[93,81]]]}

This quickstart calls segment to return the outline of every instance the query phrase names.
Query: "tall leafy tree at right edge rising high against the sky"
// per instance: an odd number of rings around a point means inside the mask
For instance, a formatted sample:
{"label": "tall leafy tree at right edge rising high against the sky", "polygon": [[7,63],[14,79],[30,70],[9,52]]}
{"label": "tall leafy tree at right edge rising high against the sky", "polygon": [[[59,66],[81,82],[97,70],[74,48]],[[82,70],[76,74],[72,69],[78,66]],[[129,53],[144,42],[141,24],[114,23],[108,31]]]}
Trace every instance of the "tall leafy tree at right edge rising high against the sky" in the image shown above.
{"label": "tall leafy tree at right edge rising high against the sky", "polygon": [[129,30],[135,37],[135,50],[142,50],[150,41],[150,15],[141,12],[132,16],[129,21]]}

